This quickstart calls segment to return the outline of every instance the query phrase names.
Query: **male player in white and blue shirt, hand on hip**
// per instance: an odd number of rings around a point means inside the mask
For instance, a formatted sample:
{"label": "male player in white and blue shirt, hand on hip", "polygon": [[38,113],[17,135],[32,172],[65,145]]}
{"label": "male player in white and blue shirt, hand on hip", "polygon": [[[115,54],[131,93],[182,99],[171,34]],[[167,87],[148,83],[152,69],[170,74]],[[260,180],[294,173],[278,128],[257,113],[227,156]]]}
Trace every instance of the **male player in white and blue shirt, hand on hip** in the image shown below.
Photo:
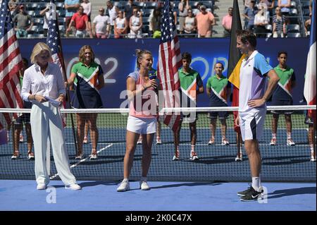
{"label": "male player in white and blue shirt, hand on hip", "polygon": [[240,67],[239,116],[235,123],[241,129],[252,176],[251,186],[247,190],[238,192],[237,195],[241,196],[242,201],[254,201],[263,190],[260,180],[259,140],[266,117],[266,100],[272,95],[280,78],[265,57],[256,51],[254,33],[238,30],[237,49],[247,56],[242,60]]}

